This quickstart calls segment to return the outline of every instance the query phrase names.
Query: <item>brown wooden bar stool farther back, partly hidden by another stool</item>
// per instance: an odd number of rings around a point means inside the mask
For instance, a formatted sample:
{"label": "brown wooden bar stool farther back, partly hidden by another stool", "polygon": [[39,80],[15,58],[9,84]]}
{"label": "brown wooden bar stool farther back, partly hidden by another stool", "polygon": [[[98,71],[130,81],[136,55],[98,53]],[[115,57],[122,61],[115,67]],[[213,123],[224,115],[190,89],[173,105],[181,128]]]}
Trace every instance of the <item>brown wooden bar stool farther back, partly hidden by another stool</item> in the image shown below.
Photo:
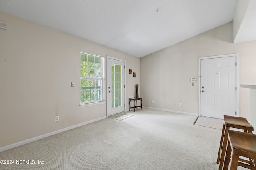
{"label": "brown wooden bar stool farther back, partly hidden by another stool", "polygon": [[220,139],[220,147],[218,152],[217,164],[220,164],[219,170],[222,169],[224,156],[226,153],[226,146],[228,141],[228,129],[236,128],[242,129],[246,133],[252,133],[253,127],[250,123],[243,117],[234,117],[234,116],[227,116],[224,115],[224,123],[222,128],[222,135]]}

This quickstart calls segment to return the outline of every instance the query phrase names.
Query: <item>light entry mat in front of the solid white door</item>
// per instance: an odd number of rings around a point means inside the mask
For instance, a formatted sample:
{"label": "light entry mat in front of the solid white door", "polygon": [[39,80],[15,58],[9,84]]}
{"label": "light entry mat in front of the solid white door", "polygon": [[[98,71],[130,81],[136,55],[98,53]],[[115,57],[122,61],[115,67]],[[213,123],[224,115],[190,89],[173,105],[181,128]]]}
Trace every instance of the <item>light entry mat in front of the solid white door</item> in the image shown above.
{"label": "light entry mat in front of the solid white door", "polygon": [[222,130],[223,122],[224,122],[223,119],[198,116],[196,121],[194,122],[194,125]]}

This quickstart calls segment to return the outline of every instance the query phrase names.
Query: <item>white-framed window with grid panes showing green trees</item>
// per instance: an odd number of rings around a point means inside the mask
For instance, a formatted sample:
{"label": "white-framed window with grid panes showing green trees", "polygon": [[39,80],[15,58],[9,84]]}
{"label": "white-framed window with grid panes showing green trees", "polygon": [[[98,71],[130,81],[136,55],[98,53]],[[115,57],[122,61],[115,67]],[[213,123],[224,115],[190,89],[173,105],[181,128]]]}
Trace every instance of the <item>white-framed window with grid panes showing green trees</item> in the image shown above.
{"label": "white-framed window with grid panes showing green trees", "polygon": [[104,100],[104,57],[81,52],[80,103]]}

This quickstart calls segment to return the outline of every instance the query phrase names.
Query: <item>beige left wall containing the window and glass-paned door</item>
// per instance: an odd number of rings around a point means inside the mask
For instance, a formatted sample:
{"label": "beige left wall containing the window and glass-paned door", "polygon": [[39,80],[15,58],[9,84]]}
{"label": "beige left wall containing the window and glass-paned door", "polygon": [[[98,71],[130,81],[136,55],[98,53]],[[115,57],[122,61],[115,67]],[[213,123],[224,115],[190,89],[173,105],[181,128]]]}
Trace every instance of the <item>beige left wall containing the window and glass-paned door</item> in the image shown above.
{"label": "beige left wall containing the window and glass-paned door", "polygon": [[7,23],[0,29],[0,148],[106,117],[106,102],[79,106],[80,51],[126,60],[128,109],[139,58],[2,12],[0,21]]}

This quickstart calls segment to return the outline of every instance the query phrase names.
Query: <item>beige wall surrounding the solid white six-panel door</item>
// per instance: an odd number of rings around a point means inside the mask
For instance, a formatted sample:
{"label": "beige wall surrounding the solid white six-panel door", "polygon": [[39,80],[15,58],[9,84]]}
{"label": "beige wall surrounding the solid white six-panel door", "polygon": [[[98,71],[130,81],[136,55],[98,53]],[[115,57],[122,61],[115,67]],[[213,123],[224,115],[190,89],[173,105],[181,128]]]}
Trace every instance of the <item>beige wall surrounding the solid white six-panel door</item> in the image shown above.
{"label": "beige wall surrounding the solid white six-panel door", "polygon": [[[198,114],[199,57],[239,53],[240,84],[255,85],[256,41],[233,44],[232,35],[231,22],[143,57],[143,106]],[[197,78],[195,86],[190,78]],[[250,120],[249,89],[239,90],[240,116]]]}

